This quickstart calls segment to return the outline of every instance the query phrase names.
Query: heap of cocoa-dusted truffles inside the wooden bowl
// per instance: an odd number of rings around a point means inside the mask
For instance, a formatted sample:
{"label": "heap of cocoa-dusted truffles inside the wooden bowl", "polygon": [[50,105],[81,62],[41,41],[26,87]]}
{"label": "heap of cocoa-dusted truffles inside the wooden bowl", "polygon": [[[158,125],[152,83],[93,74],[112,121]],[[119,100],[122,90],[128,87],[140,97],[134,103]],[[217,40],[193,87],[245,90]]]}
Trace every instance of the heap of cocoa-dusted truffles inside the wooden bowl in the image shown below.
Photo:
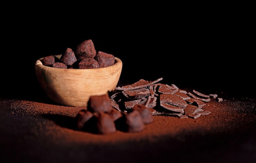
{"label": "heap of cocoa-dusted truffles inside the wooden bowl", "polygon": [[85,40],[72,51],[67,48],[58,59],[54,55],[44,57],[42,64],[54,68],[89,69],[103,68],[115,64],[115,56],[112,54],[96,51],[92,40]]}

